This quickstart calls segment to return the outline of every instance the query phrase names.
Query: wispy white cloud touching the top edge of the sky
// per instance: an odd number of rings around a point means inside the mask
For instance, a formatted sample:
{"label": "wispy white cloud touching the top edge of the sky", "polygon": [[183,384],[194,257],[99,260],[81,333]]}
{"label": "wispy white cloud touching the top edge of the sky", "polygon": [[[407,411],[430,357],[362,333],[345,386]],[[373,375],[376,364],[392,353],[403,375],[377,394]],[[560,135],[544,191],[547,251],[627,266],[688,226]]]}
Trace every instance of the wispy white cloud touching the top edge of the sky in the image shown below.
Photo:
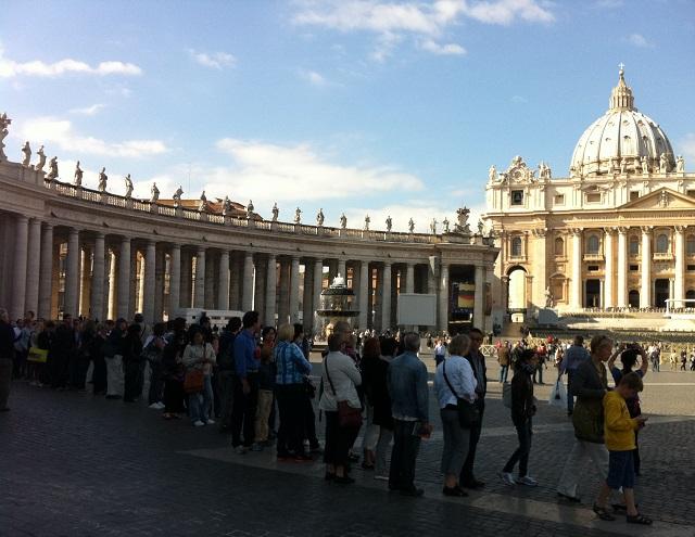
{"label": "wispy white cloud touching the top edge of the sky", "polygon": [[433,0],[429,2],[387,2],[380,0],[300,0],[292,22],[344,34],[364,31],[377,36],[371,57],[383,62],[392,55],[404,35],[430,38],[419,46],[437,54],[464,54],[455,43],[439,44],[441,38],[462,17],[484,24],[508,26],[517,21],[552,23],[553,13],[536,0]]}

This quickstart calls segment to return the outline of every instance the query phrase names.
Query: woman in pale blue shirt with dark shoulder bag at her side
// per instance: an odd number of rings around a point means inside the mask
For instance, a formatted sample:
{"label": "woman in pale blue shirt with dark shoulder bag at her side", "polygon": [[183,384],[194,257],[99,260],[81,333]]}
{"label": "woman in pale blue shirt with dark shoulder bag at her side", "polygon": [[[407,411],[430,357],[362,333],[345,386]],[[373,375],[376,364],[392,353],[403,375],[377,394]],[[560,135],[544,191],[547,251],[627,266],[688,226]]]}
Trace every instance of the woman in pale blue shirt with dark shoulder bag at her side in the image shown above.
{"label": "woman in pale blue shirt with dark shoulder bag at her side", "polygon": [[458,476],[470,446],[470,429],[465,429],[458,415],[458,401],[476,400],[476,378],[468,360],[464,358],[470,349],[470,337],[454,336],[448,344],[448,358],[438,367],[434,374],[434,391],[439,401],[444,433],[441,471],[444,474],[444,496],[468,496],[458,484]]}

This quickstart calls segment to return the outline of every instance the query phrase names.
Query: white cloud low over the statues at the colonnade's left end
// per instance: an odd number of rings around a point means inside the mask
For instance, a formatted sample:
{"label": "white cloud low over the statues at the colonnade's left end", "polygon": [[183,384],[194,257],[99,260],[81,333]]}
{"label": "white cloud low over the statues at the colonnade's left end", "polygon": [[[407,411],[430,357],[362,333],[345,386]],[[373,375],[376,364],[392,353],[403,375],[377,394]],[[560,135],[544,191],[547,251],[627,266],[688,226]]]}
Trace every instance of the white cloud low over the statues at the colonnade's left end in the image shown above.
{"label": "white cloud low over the statues at the colonnade's left end", "polygon": [[51,151],[49,144],[77,154],[121,156],[138,158],[159,155],[168,151],[161,140],[125,140],[123,142],[106,142],[93,137],[76,133],[67,119],[54,117],[38,117],[24,123],[20,138],[31,143],[47,145],[47,154]]}

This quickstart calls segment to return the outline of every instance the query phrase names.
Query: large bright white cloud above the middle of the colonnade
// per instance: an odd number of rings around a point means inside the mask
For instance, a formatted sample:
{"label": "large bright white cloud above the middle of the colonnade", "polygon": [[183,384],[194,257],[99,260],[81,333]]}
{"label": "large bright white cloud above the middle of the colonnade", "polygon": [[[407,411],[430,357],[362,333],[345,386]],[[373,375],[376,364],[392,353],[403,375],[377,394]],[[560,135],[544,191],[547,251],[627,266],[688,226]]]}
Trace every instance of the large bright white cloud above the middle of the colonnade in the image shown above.
{"label": "large bright white cloud above the middle of the colonnade", "polygon": [[418,177],[392,166],[331,163],[308,144],[283,146],[225,138],[217,148],[231,156],[232,163],[200,172],[206,177],[206,192],[219,197],[242,192],[254,204],[258,202],[258,207],[269,207],[275,200],[292,204],[425,188]]}

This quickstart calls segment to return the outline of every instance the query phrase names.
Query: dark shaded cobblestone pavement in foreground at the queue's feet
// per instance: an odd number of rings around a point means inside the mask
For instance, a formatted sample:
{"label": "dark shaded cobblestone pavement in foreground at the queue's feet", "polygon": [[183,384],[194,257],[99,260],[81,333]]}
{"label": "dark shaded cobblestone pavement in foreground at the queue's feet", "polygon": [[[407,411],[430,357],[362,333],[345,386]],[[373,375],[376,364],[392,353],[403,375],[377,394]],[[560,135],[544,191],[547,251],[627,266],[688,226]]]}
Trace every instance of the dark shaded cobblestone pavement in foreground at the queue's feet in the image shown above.
{"label": "dark shaded cobblestone pavement in foreground at the queue's feet", "polygon": [[[324,482],[317,462],[278,463],[271,449],[235,455],[216,429],[164,421],[143,404],[15,383],[12,411],[0,415],[0,536],[695,536],[687,508],[695,418],[654,417],[641,435],[637,496],[656,522],[628,527],[596,521],[590,506],[597,483],[590,474],[581,483],[582,504],[557,501],[572,431],[565,412],[546,405],[530,462],[540,486],[508,489],[498,482],[516,436],[498,384],[490,388],[477,462],[484,491],[441,495],[435,432],[418,460],[426,496],[412,499],[388,493],[358,468],[357,484],[340,487]],[[438,424],[435,415],[432,408]]]}

